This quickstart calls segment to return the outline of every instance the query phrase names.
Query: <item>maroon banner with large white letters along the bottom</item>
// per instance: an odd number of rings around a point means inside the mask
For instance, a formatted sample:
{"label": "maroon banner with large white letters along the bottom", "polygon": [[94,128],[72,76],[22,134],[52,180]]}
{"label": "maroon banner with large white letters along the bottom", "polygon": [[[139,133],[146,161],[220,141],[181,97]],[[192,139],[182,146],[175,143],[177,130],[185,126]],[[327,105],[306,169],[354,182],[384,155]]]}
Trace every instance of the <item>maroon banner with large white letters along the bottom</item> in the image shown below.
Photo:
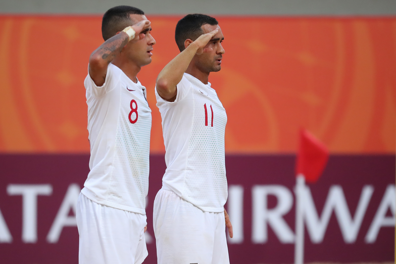
{"label": "maroon banner with large white letters along the bottom", "polygon": [[[89,155],[0,155],[1,264],[76,264],[75,202]],[[152,203],[165,170],[150,157],[148,259],[156,263]],[[293,263],[295,156],[227,156],[234,225],[231,263]],[[331,156],[304,191],[305,262],[393,262],[395,156]]]}

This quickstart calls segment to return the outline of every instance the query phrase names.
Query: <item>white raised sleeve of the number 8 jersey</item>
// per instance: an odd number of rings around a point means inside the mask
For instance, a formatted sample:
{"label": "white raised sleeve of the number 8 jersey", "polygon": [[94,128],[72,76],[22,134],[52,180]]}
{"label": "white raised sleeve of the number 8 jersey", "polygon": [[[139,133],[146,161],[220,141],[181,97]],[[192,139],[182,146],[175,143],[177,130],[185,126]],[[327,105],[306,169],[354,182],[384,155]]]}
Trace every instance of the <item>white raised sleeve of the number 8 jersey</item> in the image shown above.
{"label": "white raised sleeve of the number 8 jersey", "polygon": [[91,75],[89,74],[88,71],[88,75],[84,81],[84,86],[87,89],[87,91],[90,91],[95,97],[100,97],[113,90],[120,79],[120,74],[115,68],[116,67],[111,63],[108,64],[106,77],[104,79],[104,83],[102,86],[97,86],[95,84],[94,80],[92,80]]}

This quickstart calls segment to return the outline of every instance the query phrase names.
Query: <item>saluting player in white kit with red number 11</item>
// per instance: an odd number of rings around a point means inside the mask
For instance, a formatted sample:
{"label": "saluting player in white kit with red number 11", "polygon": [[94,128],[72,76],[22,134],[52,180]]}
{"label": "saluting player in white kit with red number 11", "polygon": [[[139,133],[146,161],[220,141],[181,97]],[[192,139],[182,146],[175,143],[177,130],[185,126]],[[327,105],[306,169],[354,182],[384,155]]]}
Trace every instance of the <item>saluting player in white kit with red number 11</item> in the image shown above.
{"label": "saluting player in white kit with red number 11", "polygon": [[158,264],[229,264],[227,115],[208,82],[221,69],[224,36],[215,18],[190,14],[177,23],[175,39],[181,53],[155,88],[167,166],[153,210]]}

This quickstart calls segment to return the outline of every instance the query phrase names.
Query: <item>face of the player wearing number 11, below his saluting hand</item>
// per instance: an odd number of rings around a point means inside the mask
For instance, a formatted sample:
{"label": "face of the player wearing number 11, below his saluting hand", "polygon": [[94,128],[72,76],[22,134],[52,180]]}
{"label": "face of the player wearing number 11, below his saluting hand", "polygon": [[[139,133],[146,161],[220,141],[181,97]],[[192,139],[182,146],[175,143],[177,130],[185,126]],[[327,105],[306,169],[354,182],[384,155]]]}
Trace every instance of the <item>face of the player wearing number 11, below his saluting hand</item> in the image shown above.
{"label": "face of the player wearing number 11, below his saluting hand", "polygon": [[205,24],[201,26],[203,34],[209,33],[215,29],[219,32],[208,42],[205,48],[211,48],[212,51],[196,55],[196,66],[202,72],[208,73],[212,71],[219,71],[221,69],[221,60],[223,58],[224,49],[221,43],[224,40],[223,32],[219,25],[211,26]]}

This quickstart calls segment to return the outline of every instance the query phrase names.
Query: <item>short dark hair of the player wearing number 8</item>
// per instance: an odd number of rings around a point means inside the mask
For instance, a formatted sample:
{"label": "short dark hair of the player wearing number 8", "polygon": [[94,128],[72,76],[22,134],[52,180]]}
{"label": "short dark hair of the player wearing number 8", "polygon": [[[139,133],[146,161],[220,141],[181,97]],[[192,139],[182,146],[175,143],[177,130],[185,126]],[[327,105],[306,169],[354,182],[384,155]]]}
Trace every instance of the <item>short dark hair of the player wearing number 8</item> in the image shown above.
{"label": "short dark hair of the player wearing number 8", "polygon": [[103,40],[108,40],[117,32],[126,28],[131,22],[131,14],[144,15],[145,12],[139,8],[129,5],[119,5],[108,9],[102,18]]}

